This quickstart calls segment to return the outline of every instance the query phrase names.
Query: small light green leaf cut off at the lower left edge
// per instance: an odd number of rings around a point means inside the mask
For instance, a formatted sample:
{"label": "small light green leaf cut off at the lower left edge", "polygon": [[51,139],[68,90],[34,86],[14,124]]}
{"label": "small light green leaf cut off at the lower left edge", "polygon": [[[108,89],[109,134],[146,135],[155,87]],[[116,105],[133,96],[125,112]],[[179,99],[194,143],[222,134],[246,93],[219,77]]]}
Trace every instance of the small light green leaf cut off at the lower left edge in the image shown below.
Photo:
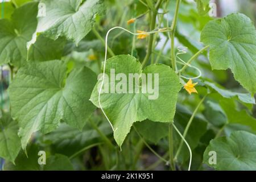
{"label": "small light green leaf cut off at the lower left edge", "polygon": [[20,150],[18,123],[13,121],[9,113],[3,113],[0,118],[0,157],[14,163]]}

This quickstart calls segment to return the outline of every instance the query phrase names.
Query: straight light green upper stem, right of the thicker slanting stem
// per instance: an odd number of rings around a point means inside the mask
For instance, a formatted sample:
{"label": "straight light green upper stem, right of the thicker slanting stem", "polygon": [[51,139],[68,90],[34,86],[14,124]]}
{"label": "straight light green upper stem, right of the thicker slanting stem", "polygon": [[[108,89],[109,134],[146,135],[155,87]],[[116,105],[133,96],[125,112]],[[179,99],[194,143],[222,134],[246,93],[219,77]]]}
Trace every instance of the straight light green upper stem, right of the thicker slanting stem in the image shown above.
{"label": "straight light green upper stem, right of the thicker slanting stem", "polygon": [[175,56],[175,31],[176,31],[176,25],[177,25],[177,16],[179,14],[179,7],[180,7],[181,0],[177,0],[176,7],[175,7],[175,14],[174,19],[172,20],[172,26],[171,26],[171,57],[172,57],[172,69],[176,71],[176,56]]}

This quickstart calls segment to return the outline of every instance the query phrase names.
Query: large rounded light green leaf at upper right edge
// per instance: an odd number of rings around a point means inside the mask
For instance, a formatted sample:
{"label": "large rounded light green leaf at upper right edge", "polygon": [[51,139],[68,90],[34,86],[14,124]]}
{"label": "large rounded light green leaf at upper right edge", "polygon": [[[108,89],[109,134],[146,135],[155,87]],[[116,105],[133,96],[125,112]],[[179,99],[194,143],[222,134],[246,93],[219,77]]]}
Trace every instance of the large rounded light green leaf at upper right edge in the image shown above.
{"label": "large rounded light green leaf at upper right edge", "polygon": [[210,46],[212,69],[230,68],[244,88],[256,92],[256,31],[250,18],[231,14],[213,20],[204,27],[201,42]]}

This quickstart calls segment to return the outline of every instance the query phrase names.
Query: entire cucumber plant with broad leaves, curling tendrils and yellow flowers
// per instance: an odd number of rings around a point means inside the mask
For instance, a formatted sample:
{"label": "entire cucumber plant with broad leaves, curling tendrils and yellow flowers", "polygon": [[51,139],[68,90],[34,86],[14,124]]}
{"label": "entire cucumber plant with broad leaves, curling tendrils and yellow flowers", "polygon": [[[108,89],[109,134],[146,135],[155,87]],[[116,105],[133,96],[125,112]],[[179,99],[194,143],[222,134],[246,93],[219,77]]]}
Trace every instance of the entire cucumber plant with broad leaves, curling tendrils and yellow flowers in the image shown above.
{"label": "entire cucumber plant with broad leaves, curling tendrils and yellow flowers", "polygon": [[[209,3],[3,1],[2,169],[256,170],[255,26]],[[101,92],[113,70],[157,75],[156,98]]]}

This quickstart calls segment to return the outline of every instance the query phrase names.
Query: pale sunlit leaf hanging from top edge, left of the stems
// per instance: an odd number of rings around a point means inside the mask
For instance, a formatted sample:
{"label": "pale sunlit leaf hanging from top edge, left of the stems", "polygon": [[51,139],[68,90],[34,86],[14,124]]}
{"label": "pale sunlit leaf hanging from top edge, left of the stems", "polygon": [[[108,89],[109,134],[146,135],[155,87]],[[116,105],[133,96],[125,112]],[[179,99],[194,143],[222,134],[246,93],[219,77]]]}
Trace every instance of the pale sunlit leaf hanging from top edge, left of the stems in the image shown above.
{"label": "pale sunlit leaf hanging from top edge, left of the stems", "polygon": [[102,0],[42,0],[46,16],[38,17],[38,27],[28,47],[36,42],[38,34],[57,39],[63,36],[76,44],[91,30],[96,15],[104,12]]}

